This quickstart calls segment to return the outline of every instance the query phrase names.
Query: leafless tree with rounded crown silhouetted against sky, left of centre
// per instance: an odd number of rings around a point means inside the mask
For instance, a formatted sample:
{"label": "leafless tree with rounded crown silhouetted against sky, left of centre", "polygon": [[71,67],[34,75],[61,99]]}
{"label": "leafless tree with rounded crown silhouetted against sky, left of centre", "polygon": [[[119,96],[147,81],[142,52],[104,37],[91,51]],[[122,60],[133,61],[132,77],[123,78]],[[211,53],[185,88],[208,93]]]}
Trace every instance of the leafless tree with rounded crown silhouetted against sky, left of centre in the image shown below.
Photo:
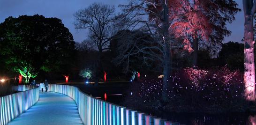
{"label": "leafless tree with rounded crown silhouetted against sky, left of centre", "polygon": [[102,51],[109,49],[109,38],[113,34],[114,10],[113,6],[93,3],[74,14],[75,29],[89,29],[90,43],[98,49],[96,83],[98,83],[100,73],[103,72]]}

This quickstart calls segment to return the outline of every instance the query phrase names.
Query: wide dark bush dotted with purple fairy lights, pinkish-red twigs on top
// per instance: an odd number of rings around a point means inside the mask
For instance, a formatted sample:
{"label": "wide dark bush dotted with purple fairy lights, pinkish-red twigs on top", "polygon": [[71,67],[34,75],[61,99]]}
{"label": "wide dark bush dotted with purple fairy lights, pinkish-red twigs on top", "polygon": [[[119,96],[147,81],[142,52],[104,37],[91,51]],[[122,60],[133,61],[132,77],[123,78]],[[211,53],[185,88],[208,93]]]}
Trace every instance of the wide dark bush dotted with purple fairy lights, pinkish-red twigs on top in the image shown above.
{"label": "wide dark bush dotted with purple fairy lights, pinkish-red twigs on top", "polygon": [[[243,75],[226,67],[185,68],[171,75],[168,82],[167,103],[161,99],[163,78],[146,77],[129,88],[123,105],[151,112],[191,113],[243,112],[248,108],[244,100]],[[136,103],[129,103],[131,101]]]}

